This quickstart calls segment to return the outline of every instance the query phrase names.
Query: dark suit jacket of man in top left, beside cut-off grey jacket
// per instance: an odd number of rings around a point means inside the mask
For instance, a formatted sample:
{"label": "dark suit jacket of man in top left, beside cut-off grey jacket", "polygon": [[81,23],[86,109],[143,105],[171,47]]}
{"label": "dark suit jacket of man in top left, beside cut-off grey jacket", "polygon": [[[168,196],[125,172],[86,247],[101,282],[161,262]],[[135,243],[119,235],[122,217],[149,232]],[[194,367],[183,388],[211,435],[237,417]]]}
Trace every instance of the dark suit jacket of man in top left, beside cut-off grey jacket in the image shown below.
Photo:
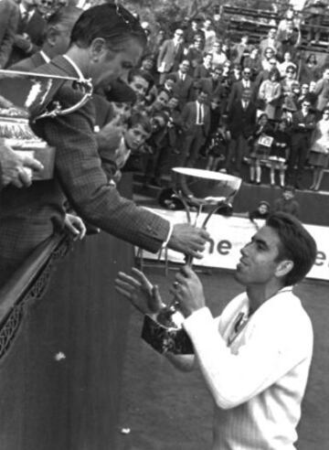
{"label": "dark suit jacket of man in top left, beside cut-off grey jacket", "polygon": [[17,39],[14,40],[13,51],[10,56],[9,64],[15,64],[17,61],[21,59],[26,59],[32,53],[36,53],[36,51],[42,46],[45,28],[47,26],[46,20],[41,16],[41,14],[35,9],[33,15],[29,18],[27,23],[23,23],[21,14],[19,12],[19,22],[17,27],[17,35],[22,35],[27,33],[27,35],[31,39],[32,48],[20,48]]}

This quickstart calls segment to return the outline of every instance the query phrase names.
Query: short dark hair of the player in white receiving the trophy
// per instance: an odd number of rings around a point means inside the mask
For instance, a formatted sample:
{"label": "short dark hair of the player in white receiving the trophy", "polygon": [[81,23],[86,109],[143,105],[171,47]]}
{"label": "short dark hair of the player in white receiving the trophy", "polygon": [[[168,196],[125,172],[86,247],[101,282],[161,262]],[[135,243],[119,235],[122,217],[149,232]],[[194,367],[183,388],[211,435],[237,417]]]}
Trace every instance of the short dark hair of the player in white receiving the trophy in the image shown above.
{"label": "short dark hair of the player in white receiving the trophy", "polygon": [[292,270],[284,277],[284,285],[297,284],[310,272],[316,258],[316,243],[300,220],[285,212],[274,212],[266,225],[275,230],[280,239],[278,260],[292,260]]}

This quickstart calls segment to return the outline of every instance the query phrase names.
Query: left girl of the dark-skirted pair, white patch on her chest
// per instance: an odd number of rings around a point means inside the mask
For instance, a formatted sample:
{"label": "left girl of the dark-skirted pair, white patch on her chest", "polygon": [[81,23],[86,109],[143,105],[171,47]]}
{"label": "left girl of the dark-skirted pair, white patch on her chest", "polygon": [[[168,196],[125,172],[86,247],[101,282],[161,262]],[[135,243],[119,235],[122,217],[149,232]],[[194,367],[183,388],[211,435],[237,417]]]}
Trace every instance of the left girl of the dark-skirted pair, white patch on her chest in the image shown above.
{"label": "left girl of the dark-skirted pair, white patch on her chest", "polygon": [[253,151],[250,153],[250,183],[260,185],[261,166],[260,163],[267,160],[273,143],[272,128],[267,114],[260,114],[257,121],[255,133],[252,136]]}

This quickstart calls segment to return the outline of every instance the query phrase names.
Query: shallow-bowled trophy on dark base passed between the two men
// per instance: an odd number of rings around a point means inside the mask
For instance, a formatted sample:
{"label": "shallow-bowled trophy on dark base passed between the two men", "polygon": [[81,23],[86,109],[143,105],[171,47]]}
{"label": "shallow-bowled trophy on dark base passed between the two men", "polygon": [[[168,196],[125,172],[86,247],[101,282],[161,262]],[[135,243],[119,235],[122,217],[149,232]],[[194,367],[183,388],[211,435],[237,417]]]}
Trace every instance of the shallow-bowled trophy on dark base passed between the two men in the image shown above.
{"label": "shallow-bowled trophy on dark base passed between the two men", "polygon": [[[201,212],[206,218],[201,223],[206,228],[211,216],[221,208],[231,206],[239,191],[241,178],[188,167],[173,168],[178,177],[183,177],[186,189],[177,190],[179,198],[186,210],[186,220],[192,223],[192,210],[196,211],[194,224],[198,224]],[[186,263],[192,265],[192,258],[186,256]],[[175,297],[170,305],[165,306],[154,318],[144,316],[142,338],[160,353],[171,351],[175,354],[191,354],[193,346],[182,327],[183,315],[177,309]]]}

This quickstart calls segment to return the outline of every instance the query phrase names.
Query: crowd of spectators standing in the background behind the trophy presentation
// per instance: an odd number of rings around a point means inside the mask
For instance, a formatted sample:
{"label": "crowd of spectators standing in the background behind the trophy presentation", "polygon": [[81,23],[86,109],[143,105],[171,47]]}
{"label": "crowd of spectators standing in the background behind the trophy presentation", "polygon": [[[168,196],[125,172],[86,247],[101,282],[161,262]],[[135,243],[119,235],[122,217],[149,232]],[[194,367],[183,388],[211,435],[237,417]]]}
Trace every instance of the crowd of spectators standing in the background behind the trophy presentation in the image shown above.
{"label": "crowd of spectators standing in the background behind the trophy presentation", "polygon": [[[0,36],[0,65],[16,70],[64,53],[89,6],[2,0],[0,7],[5,2],[12,19]],[[329,157],[329,67],[300,51],[291,9],[257,45],[248,35],[231,42],[207,17],[186,18],[170,35],[140,19],[148,44],[139,67],[93,99],[111,182],[138,170],[145,186],[163,186],[168,167],[202,166],[253,184],[320,189]],[[312,186],[303,184],[306,168]]]}

